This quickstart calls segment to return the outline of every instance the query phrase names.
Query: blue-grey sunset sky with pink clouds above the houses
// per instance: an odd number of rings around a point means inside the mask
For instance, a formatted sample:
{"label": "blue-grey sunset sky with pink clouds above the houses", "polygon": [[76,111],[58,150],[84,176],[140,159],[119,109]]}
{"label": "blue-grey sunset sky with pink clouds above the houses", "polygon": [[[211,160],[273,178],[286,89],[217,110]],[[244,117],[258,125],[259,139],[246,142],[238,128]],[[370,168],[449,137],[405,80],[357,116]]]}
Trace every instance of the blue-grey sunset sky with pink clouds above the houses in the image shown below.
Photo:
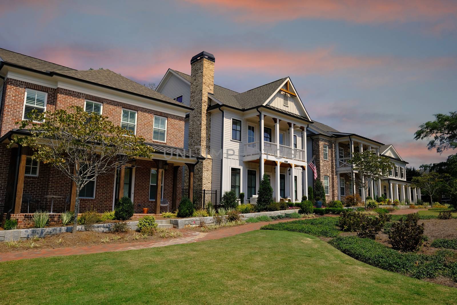
{"label": "blue-grey sunset sky with pink clouds above the houses", "polygon": [[290,76],[311,119],[393,144],[410,165],[456,153],[414,132],[457,110],[457,1],[7,0],[0,47],[142,84],[169,67],[190,74],[207,51],[218,85]]}

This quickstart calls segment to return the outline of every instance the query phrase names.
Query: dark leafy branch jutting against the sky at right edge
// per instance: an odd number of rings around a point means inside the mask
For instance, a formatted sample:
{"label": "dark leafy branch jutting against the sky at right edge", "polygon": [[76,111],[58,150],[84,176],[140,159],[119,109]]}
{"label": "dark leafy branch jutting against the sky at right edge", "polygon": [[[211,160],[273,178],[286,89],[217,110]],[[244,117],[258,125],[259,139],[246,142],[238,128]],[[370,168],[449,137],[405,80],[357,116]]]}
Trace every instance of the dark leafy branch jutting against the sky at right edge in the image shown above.
{"label": "dark leafy branch jutting against the sky at right edge", "polygon": [[419,126],[414,134],[415,140],[433,137],[427,144],[429,150],[436,148],[438,153],[457,148],[457,111],[449,114],[435,114],[434,121],[428,121]]}

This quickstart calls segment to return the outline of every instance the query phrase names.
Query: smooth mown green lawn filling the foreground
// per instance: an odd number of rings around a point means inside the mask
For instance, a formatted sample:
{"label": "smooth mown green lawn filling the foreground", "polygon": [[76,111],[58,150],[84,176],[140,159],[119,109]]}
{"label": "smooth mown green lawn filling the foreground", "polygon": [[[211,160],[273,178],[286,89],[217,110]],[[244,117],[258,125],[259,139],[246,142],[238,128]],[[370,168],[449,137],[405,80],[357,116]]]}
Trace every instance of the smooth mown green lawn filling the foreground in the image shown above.
{"label": "smooth mown green lawn filling the foreground", "polygon": [[455,304],[457,289],[258,230],[160,248],[0,263],[1,304]]}

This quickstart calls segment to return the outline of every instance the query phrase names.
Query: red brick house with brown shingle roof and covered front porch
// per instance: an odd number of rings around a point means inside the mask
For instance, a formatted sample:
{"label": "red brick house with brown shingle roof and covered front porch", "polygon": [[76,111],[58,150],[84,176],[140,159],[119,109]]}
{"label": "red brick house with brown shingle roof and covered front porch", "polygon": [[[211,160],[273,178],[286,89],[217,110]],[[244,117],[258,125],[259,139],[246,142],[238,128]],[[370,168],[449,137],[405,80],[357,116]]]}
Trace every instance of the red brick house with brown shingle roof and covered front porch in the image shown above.
{"label": "red brick house with brown shingle roof and covered front porch", "polygon": [[112,211],[122,196],[132,199],[135,212],[147,207],[159,213],[159,201],[169,204],[163,208],[175,209],[182,194],[182,168],[191,176],[186,181],[192,181],[194,165],[205,159],[184,150],[182,135],[191,107],[110,70],[79,71],[0,49],[0,102],[0,215],[5,217],[74,209],[69,178],[33,160],[25,147],[6,146],[11,136],[27,133],[16,122],[33,109],[78,105],[132,130],[155,150],[152,160],[133,160],[125,169],[90,181],[81,190],[79,212]]}

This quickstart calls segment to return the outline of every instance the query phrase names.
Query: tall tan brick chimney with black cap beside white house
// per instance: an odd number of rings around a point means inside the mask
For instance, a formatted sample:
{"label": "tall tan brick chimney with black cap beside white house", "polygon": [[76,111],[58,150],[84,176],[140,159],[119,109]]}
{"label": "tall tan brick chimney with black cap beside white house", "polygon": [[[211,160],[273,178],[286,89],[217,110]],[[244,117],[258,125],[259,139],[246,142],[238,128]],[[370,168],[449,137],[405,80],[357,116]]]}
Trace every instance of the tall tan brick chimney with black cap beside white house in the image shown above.
{"label": "tall tan brick chimney with black cap beside white house", "polygon": [[211,114],[207,114],[207,108],[208,93],[214,92],[214,62],[214,55],[207,52],[191,59],[191,107],[194,110],[189,115],[189,149],[207,158],[195,167],[194,190],[211,190]]}

